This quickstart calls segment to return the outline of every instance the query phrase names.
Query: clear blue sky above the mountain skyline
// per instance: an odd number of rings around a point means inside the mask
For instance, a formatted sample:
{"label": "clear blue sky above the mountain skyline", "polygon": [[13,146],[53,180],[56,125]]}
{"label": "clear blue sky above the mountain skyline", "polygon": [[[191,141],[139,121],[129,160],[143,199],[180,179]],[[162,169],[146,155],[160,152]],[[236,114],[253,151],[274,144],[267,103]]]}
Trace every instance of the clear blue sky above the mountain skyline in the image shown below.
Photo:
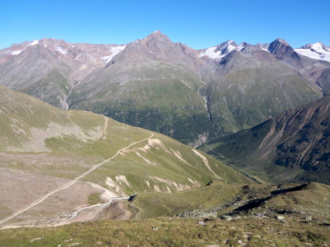
{"label": "clear blue sky above the mountain skyline", "polygon": [[330,0],[2,0],[0,49],[42,38],[126,44],[160,30],[195,49],[227,40],[330,46]]}

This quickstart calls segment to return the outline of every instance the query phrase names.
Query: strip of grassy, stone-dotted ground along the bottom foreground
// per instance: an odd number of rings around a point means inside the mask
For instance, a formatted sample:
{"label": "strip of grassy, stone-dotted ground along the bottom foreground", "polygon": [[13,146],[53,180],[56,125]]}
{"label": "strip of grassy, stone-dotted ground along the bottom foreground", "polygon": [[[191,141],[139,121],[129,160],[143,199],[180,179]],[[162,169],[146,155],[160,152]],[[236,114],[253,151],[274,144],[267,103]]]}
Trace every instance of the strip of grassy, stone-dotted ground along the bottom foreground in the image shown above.
{"label": "strip of grassy, stone-dotted ground along the bottom foreground", "polygon": [[[203,221],[205,226],[197,222]],[[328,246],[330,224],[294,215],[226,221],[178,217],[0,231],[1,246]],[[154,228],[157,228],[155,230]]]}

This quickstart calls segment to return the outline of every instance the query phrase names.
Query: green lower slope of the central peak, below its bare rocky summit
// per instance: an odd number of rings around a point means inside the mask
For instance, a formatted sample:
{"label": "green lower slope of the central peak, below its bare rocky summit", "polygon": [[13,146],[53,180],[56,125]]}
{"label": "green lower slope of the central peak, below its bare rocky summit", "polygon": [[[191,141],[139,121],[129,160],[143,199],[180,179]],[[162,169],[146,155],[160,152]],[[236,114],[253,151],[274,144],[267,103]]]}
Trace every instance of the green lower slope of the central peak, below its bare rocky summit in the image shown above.
{"label": "green lower slope of the central peak, below its bare rocky summit", "polygon": [[197,93],[202,85],[183,65],[114,64],[76,87],[69,97],[70,108],[103,114],[188,144],[199,134],[211,137],[218,132]]}

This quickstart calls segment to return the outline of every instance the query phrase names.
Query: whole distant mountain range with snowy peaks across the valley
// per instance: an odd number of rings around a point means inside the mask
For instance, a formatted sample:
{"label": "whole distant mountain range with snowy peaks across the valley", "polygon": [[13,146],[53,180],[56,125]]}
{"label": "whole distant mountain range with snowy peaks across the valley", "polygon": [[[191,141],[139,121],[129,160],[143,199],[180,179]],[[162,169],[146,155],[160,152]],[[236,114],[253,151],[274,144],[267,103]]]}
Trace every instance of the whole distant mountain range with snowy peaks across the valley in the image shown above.
{"label": "whole distant mountain range with snowy peaks across the valley", "polygon": [[42,39],[0,50],[0,84],[197,147],[327,94],[328,51],[282,39],[195,50],[160,31],[125,45]]}

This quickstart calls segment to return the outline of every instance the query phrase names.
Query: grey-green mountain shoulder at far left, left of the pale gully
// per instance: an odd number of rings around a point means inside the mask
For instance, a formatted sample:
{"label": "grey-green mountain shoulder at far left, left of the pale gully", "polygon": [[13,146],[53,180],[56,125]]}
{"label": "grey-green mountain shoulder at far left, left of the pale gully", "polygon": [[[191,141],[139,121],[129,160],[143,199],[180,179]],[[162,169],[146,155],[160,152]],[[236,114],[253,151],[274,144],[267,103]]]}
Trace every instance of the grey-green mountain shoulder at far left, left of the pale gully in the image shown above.
{"label": "grey-green mountain shoulder at far left, left of the pale gully", "polygon": [[64,107],[70,92],[72,68],[40,45],[30,46],[0,67],[0,84]]}

